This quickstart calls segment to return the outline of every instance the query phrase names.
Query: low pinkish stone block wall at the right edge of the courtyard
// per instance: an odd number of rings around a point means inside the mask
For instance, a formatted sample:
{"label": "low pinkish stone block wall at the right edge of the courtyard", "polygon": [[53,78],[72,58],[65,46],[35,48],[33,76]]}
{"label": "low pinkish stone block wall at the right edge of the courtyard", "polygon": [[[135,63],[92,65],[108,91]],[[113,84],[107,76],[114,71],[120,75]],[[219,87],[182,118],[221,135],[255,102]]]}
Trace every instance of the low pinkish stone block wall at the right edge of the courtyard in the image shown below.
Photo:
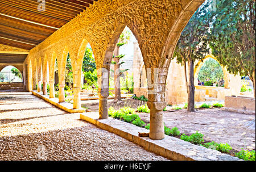
{"label": "low pinkish stone block wall at the right edge of the courtyard", "polygon": [[225,107],[236,110],[254,111],[255,112],[255,98],[249,97],[225,97]]}

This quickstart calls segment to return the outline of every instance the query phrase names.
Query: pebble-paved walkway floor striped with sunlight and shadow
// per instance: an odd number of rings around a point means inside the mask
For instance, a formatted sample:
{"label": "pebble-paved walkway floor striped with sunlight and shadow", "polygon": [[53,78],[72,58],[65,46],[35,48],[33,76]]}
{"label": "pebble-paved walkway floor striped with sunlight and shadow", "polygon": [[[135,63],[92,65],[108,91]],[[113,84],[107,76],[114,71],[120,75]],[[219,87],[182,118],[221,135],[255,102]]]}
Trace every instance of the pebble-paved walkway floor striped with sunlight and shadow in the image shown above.
{"label": "pebble-paved walkway floor striped with sunlight and shadow", "polygon": [[167,160],[26,92],[0,91],[0,160]]}

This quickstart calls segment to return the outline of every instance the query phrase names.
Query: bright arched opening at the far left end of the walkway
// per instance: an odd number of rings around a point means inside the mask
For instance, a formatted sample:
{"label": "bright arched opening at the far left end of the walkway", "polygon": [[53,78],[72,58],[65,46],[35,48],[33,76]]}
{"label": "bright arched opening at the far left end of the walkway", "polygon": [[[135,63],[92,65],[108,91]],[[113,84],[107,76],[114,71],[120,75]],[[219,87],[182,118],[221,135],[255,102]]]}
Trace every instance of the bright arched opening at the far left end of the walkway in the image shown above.
{"label": "bright arched opening at the far left end of the walkway", "polygon": [[[22,66],[23,68],[23,66]],[[5,66],[0,71],[0,89],[23,89],[23,73],[15,66]]]}

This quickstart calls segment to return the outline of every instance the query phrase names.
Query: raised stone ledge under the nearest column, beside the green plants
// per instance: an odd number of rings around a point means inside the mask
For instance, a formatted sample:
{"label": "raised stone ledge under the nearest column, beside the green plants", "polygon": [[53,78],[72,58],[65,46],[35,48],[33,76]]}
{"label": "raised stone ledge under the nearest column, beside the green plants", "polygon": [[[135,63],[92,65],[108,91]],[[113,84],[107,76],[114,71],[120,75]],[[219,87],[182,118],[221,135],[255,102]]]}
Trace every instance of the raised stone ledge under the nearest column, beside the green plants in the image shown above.
{"label": "raised stone ledge under the nearest column, beside the green plants", "polygon": [[144,149],[150,150],[160,156],[175,161],[241,161],[237,157],[230,156],[191,144],[190,142],[177,139],[176,137],[165,136],[163,140],[151,140],[148,137],[139,137],[138,132],[149,132],[146,128],[137,127],[117,119],[98,119],[95,113],[80,114],[80,119],[88,121],[101,129],[113,132],[127,140],[141,145]]}

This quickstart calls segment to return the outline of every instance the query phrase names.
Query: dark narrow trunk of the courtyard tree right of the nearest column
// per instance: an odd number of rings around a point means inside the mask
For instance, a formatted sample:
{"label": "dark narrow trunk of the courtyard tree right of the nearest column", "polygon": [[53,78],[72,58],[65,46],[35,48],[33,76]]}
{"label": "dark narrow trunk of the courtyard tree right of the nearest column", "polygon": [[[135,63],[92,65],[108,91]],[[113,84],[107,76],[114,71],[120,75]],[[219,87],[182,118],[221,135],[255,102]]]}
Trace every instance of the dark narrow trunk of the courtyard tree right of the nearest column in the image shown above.
{"label": "dark narrow trunk of the courtyard tree right of the nearest column", "polygon": [[194,84],[194,61],[188,58],[188,70],[189,70],[189,81],[188,81],[188,107],[187,111],[195,111],[195,84]]}

